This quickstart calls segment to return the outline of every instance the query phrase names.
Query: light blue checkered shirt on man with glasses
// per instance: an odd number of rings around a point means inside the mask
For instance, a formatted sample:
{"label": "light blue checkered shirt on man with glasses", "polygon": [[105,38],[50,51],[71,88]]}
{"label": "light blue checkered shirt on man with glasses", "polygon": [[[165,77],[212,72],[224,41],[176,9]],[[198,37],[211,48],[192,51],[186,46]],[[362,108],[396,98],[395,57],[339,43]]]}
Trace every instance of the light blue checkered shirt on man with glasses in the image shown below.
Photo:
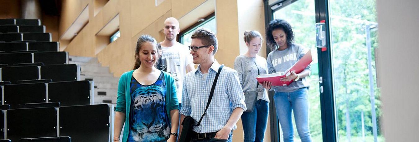
{"label": "light blue checkered shirt on man with glasses", "polygon": [[[180,110],[182,115],[191,116],[195,121],[199,121],[207,106],[212,83],[219,67],[220,64],[215,60],[209,68],[209,74],[206,78],[202,75],[200,66],[185,75],[182,108]],[[197,133],[209,133],[221,130],[227,124],[233,110],[237,107],[246,110],[244,94],[237,72],[230,67],[223,67],[218,76],[217,85],[215,86],[207,115],[202,119],[201,125],[194,126],[193,130]],[[195,122],[195,125],[197,123]],[[234,125],[233,130],[236,128],[237,126]]]}

